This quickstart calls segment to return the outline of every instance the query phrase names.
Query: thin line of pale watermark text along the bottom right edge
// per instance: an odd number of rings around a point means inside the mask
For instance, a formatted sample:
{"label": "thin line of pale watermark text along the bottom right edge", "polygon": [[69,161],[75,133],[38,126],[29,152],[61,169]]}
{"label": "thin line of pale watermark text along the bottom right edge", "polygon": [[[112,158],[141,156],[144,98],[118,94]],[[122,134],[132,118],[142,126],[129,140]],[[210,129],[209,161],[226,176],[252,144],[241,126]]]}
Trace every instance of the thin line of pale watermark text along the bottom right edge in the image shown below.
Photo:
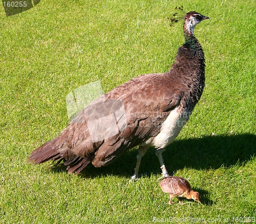
{"label": "thin line of pale watermark text along the bottom right edge", "polygon": [[226,218],[194,218],[194,217],[168,217],[168,218],[158,218],[153,217],[152,222],[175,222],[175,223],[248,223],[255,222],[255,217],[226,217]]}

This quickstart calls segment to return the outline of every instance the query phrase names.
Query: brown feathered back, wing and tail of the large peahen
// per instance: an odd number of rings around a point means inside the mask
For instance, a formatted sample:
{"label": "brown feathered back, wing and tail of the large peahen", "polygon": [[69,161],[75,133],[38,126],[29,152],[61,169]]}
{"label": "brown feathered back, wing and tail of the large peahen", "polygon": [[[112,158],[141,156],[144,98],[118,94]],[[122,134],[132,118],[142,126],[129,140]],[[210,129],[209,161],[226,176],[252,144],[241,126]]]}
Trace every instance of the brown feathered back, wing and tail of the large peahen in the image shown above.
{"label": "brown feathered back, wing and tail of the large peahen", "polygon": [[[166,73],[148,74],[104,94],[29,159],[35,163],[65,160],[67,169],[76,173],[91,161],[96,167],[109,164],[129,148],[156,136],[169,112],[180,104],[182,88],[170,79]],[[117,122],[114,127],[113,119]],[[120,120],[125,122],[120,125]]]}

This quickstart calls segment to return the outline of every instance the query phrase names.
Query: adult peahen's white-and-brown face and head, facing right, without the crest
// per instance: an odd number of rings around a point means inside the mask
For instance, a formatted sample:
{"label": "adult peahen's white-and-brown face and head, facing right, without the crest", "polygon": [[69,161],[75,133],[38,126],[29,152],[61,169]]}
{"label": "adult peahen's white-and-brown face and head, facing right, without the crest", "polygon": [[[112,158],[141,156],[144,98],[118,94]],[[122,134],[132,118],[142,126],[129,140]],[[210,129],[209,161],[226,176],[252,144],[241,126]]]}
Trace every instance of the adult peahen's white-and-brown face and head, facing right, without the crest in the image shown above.
{"label": "adult peahen's white-and-brown face and head, facing right, without the crest", "polygon": [[209,19],[209,17],[201,15],[200,13],[195,11],[188,12],[185,15],[184,24],[183,24],[183,30],[184,30],[185,36],[188,36],[188,37],[194,36],[194,28],[199,22],[203,21],[204,19]]}

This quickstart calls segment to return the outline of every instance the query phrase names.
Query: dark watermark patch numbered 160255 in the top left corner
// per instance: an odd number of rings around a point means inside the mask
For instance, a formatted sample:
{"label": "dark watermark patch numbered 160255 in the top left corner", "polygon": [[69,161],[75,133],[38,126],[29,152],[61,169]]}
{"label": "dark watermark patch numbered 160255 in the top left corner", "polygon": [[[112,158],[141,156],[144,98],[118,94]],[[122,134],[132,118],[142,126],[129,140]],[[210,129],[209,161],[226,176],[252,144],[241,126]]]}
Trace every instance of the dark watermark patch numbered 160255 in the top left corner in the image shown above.
{"label": "dark watermark patch numbered 160255 in the top left corner", "polygon": [[2,0],[2,2],[6,16],[11,16],[33,8],[40,2],[40,0]]}

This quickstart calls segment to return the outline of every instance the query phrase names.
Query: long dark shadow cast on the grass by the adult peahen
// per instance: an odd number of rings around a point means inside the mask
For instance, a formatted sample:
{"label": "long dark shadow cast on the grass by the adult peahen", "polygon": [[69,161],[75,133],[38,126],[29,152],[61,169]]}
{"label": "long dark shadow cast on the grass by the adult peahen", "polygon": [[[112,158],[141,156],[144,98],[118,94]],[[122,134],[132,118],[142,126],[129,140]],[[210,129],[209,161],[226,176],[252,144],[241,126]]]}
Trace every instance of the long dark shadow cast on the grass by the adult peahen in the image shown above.
{"label": "long dark shadow cast on the grass by the adult peahen", "polygon": [[[255,135],[205,136],[176,140],[163,153],[169,173],[182,168],[217,169],[244,164],[255,154]],[[79,174],[82,178],[121,176],[130,178],[136,165],[137,150],[133,148],[108,166],[95,168],[89,164]],[[63,171],[65,166],[53,166],[54,172]],[[155,150],[150,148],[141,160],[140,173],[161,173]]]}

